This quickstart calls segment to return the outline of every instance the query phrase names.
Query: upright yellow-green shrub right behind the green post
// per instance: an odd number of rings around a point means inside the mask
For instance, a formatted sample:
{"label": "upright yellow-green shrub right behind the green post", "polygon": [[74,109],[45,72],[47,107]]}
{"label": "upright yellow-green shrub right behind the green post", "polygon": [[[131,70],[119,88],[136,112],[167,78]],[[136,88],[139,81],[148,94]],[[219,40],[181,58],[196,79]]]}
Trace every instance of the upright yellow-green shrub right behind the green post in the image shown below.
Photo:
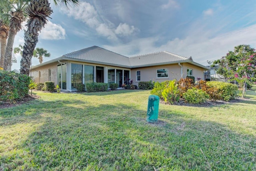
{"label": "upright yellow-green shrub right behind the green post", "polygon": [[162,91],[162,97],[165,103],[175,104],[180,99],[180,90],[176,80],[169,81]]}

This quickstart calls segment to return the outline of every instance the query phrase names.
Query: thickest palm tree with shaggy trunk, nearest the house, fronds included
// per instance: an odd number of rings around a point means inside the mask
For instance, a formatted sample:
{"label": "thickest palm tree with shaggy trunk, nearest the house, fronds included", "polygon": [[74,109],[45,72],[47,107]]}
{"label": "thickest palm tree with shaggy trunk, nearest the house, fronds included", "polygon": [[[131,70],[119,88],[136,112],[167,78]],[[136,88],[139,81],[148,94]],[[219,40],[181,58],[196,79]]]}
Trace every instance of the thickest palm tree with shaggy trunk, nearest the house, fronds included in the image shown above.
{"label": "thickest palm tree with shaggy trunk, nearest the house, fronds included", "polygon": [[[54,0],[54,4],[58,2],[64,3],[66,6],[69,2],[78,4],[79,0]],[[38,42],[38,35],[41,29],[44,27],[47,18],[50,18],[53,10],[50,7],[49,0],[31,0],[26,13],[28,14],[28,27],[24,31],[24,50],[22,53],[22,59],[20,61],[20,73],[29,75],[31,58],[33,56],[36,43]]]}

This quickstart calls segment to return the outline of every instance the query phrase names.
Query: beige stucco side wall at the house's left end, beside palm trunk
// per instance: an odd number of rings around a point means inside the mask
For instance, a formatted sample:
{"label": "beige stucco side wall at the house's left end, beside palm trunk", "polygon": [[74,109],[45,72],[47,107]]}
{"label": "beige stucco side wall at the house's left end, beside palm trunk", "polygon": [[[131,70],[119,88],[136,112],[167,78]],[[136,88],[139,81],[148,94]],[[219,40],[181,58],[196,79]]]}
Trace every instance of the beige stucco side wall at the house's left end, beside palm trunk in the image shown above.
{"label": "beige stucco side wall at the house's left end, beside palm trunk", "polygon": [[[51,81],[57,85],[57,65],[58,62],[53,64],[48,64],[46,66],[41,66],[36,68],[35,70],[32,69],[32,77],[36,83],[44,83],[49,80],[49,69],[51,69]],[[39,72],[41,72],[41,78],[39,79]]]}

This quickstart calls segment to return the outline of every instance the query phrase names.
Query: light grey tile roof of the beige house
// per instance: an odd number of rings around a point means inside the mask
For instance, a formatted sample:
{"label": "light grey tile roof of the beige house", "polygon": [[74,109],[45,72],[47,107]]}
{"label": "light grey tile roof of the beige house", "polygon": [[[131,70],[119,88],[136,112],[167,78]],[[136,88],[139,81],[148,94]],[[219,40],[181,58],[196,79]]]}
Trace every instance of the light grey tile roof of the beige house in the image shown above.
{"label": "light grey tile roof of the beige house", "polygon": [[[77,62],[88,62],[92,64],[102,64],[109,66],[118,66],[124,68],[139,68],[146,66],[156,66],[156,65],[164,65],[164,64],[178,64],[188,62],[190,64],[199,66],[206,70],[210,68],[193,62],[192,57],[186,58],[184,56],[172,54],[170,52],[156,52],[152,54],[126,57],[110,50],[106,50],[104,48],[100,48],[98,46],[92,46],[89,48],[85,48],[82,50],[78,50],[75,52],[71,52],[63,55],[60,58],[56,58],[54,60],[44,62],[39,64],[38,66],[47,65],[51,62],[56,62],[59,60],[73,60]],[[35,66],[36,68],[38,66]]]}

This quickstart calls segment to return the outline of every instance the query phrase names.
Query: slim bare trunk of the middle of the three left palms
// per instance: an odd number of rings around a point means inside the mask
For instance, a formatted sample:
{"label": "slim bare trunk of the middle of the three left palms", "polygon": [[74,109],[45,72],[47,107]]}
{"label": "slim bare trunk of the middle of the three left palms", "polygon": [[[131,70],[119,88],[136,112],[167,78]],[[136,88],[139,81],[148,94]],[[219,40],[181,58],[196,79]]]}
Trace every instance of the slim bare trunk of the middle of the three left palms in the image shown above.
{"label": "slim bare trunk of the middle of the three left palms", "polygon": [[10,27],[8,42],[7,42],[6,51],[4,55],[4,70],[6,71],[12,70],[12,48],[13,48],[13,43],[14,43],[16,34],[17,34],[17,31],[12,29],[12,27]]}

